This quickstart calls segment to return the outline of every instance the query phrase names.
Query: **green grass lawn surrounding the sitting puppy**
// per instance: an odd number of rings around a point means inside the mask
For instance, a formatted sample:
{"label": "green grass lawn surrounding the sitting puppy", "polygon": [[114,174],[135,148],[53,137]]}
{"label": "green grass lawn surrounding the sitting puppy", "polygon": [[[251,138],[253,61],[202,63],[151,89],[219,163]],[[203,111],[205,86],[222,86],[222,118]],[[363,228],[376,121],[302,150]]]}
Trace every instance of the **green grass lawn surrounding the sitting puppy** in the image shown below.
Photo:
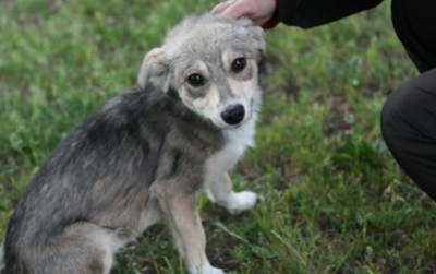
{"label": "green grass lawn surrounding the sitting puppy", "polygon": [[[0,3],[0,237],[56,145],[133,85],[142,57],[213,1]],[[214,265],[230,273],[435,273],[435,204],[383,142],[387,94],[416,75],[389,3],[308,31],[268,32],[256,147],[235,168],[261,193],[241,216],[201,198]],[[184,273],[168,227],[117,258],[113,273]]]}

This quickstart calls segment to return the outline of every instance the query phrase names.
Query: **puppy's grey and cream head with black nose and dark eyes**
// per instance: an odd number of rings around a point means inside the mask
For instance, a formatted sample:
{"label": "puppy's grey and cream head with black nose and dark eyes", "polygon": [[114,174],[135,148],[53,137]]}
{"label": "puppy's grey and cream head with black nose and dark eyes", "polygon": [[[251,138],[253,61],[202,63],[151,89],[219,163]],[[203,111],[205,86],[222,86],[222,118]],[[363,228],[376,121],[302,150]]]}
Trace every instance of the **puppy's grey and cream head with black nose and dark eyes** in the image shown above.
{"label": "puppy's grey and cream head with black nose and dark eyes", "polygon": [[264,51],[265,33],[249,19],[189,17],[169,32],[162,47],[145,56],[137,83],[177,93],[215,126],[234,128],[256,110]]}

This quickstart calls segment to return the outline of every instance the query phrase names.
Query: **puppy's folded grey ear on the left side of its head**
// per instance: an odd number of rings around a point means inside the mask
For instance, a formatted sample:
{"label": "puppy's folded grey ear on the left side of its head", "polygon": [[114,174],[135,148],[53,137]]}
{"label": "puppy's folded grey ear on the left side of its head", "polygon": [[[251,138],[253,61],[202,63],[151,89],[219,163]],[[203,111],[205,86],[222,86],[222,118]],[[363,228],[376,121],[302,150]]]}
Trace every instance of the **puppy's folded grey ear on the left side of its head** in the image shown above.
{"label": "puppy's folded grey ear on the left side of its head", "polygon": [[137,84],[145,88],[148,83],[164,92],[169,90],[169,62],[162,48],[154,48],[144,57]]}

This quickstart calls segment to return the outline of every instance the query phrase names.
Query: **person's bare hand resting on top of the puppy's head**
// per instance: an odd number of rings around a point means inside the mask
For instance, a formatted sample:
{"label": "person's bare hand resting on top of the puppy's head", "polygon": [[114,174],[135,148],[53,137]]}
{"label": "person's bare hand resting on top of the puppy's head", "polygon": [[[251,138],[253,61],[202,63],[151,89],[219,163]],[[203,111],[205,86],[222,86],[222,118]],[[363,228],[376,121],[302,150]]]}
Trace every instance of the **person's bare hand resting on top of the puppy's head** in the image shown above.
{"label": "person's bare hand resting on top of the puppy's head", "polygon": [[211,12],[234,19],[249,17],[257,25],[268,22],[275,10],[276,0],[228,0],[217,4]]}

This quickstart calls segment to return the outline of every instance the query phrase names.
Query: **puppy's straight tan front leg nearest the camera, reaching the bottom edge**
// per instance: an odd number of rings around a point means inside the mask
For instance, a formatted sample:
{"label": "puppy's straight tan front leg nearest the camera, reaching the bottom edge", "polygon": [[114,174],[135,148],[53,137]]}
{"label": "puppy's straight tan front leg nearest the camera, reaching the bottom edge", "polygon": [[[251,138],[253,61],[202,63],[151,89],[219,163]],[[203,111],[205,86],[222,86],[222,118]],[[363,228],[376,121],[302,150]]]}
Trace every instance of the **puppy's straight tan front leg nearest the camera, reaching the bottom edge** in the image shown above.
{"label": "puppy's straight tan front leg nearest the camera, reaching the bottom edge", "polygon": [[206,257],[206,236],[198,216],[196,194],[186,193],[175,183],[154,189],[167,216],[180,253],[191,274],[223,274]]}

